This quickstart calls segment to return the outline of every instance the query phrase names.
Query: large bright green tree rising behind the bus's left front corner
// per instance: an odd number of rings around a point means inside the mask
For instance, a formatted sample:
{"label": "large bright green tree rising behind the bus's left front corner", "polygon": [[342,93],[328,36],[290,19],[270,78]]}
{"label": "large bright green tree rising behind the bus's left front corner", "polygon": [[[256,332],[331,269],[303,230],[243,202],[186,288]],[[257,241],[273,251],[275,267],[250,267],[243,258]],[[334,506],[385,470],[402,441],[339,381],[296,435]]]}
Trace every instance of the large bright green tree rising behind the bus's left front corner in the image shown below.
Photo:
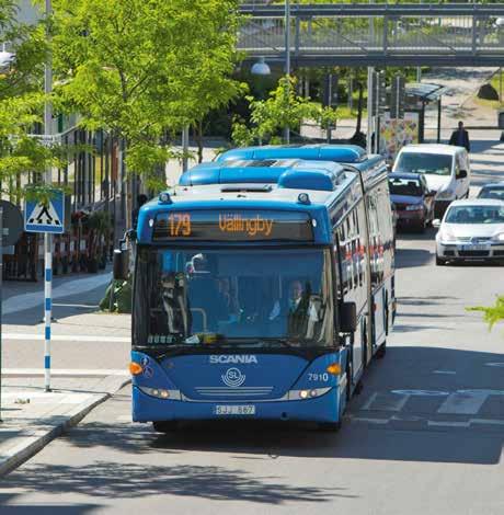
{"label": "large bright green tree rising behind the bus's left front corner", "polygon": [[151,188],[173,156],[163,139],[238,94],[230,80],[238,0],[55,0],[57,101],[123,141]]}

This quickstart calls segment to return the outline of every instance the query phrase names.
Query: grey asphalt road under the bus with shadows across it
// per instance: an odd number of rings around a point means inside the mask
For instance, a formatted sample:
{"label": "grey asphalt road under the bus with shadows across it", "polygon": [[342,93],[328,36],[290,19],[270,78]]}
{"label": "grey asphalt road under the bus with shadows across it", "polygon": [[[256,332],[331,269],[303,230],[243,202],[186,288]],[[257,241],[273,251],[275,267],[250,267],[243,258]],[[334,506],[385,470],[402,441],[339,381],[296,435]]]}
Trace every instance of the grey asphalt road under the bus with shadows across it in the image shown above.
{"label": "grey asphalt road under the bus with shadows across it", "polygon": [[[481,148],[476,185],[503,151]],[[436,267],[432,230],[401,234],[397,265],[387,356],[339,434],[247,422],[160,436],[130,423],[126,388],[4,478],[1,513],[504,513],[504,335],[466,311],[503,293],[502,268]]]}

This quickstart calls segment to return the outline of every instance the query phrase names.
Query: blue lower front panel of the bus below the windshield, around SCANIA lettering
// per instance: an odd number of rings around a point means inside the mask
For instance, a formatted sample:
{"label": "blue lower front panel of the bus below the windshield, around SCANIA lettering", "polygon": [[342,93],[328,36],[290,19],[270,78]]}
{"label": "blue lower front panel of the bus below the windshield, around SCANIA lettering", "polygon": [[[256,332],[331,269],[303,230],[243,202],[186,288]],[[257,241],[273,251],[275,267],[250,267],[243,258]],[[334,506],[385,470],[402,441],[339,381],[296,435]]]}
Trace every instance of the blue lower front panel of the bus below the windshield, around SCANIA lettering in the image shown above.
{"label": "blue lower front panel of the bus below the windshield, around SCANIA lettering", "polygon": [[[158,362],[134,351],[131,359],[144,367],[144,373],[133,378],[133,420],[222,419],[215,413],[217,404],[253,404],[254,419],[337,422],[339,413],[344,409],[343,376],[328,374],[327,368],[339,363],[344,370],[346,348],[320,356],[311,363],[303,357],[285,354],[247,354],[255,359],[245,364],[210,363],[210,356],[219,355],[191,354]],[[228,387],[225,382],[232,369],[239,370],[243,381],[238,387]],[[180,390],[182,400],[151,397],[141,391],[141,387]],[[314,399],[285,400],[289,390],[316,388],[329,391]]]}

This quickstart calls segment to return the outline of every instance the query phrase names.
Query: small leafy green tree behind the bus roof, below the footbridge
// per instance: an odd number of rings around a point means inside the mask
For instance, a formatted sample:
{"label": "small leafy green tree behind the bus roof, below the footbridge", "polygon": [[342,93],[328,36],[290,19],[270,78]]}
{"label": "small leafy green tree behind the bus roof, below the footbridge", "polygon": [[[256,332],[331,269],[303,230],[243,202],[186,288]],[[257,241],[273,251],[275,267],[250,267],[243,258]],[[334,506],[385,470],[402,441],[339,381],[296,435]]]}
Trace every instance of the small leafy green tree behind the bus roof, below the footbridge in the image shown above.
{"label": "small leafy green tree behind the bus roof, below the footbridge", "polygon": [[232,140],[239,147],[254,141],[260,145],[280,142],[282,129],[289,127],[297,130],[305,119],[313,119],[323,127],[336,121],[335,110],[322,107],[297,95],[296,79],[291,77],[280,78],[277,88],[266,100],[254,100],[252,96],[247,96],[247,100],[251,125],[247,126],[242,119],[234,119],[232,127]]}

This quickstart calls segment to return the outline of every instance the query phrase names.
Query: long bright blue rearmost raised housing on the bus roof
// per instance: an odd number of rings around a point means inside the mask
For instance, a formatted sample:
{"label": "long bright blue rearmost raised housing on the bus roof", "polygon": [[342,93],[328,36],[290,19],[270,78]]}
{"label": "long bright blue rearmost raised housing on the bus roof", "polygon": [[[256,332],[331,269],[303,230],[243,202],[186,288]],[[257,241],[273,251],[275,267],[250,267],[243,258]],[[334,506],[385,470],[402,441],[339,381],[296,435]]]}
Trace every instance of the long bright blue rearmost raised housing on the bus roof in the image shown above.
{"label": "long bright blue rearmost raised housing on the bus roof", "polygon": [[236,148],[222,152],[217,162],[237,159],[306,159],[358,163],[366,159],[366,151],[355,145],[302,145],[302,146],[265,146]]}

